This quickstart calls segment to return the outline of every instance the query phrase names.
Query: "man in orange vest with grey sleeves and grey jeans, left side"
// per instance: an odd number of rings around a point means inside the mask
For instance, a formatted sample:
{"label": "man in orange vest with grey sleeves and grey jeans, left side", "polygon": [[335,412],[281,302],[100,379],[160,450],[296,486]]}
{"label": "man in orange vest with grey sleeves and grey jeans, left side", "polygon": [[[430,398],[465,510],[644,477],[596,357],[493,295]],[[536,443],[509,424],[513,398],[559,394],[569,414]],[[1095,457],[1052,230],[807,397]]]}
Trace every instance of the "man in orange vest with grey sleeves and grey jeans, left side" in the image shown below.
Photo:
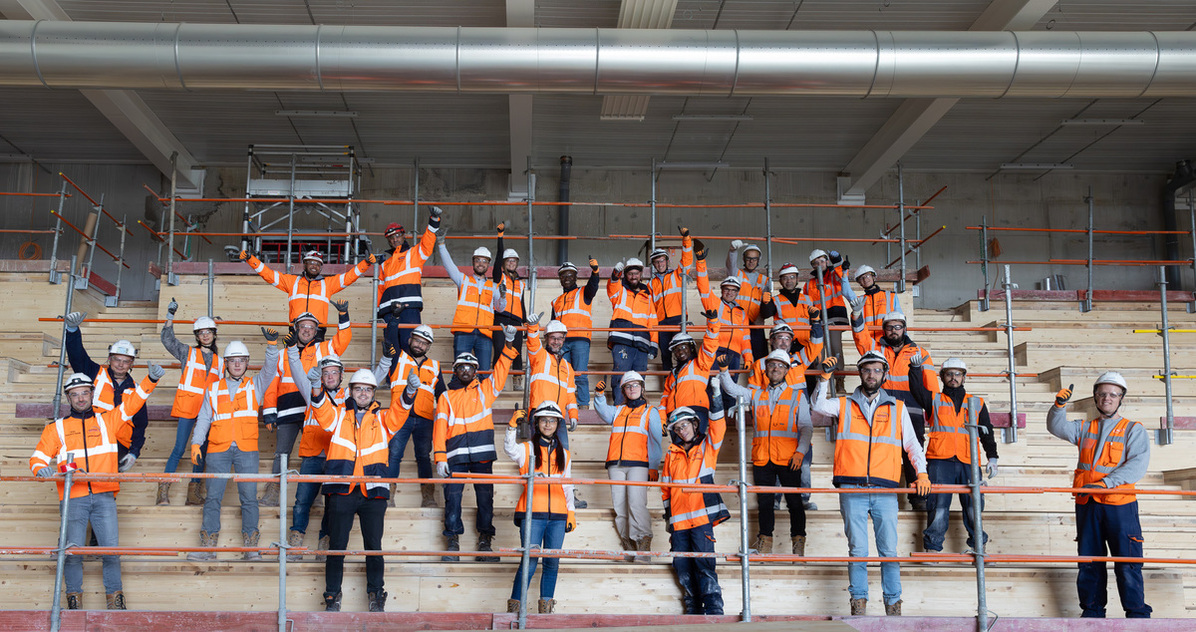
{"label": "man in orange vest with grey sleeves and grey jeans, left side", "polygon": [[[199,463],[200,446],[207,442],[208,456],[203,470],[208,474],[257,474],[257,412],[262,406],[262,393],[279,370],[279,333],[263,327],[262,335],[268,345],[262,370],[252,379],[246,377],[249,348],[240,340],[233,340],[225,345],[225,377],[212,384],[205,394],[195,433],[191,436],[191,463]],[[220,504],[227,485],[228,479],[208,481],[208,493],[203,500],[203,524],[200,528],[201,547],[214,547],[220,542]],[[238,481],[237,494],[240,497],[242,543],[256,547],[260,536],[257,484]],[[246,551],[244,558],[257,560],[262,559],[262,554]],[[188,553],[187,559],[209,561],[216,559],[216,554],[195,551]]]}

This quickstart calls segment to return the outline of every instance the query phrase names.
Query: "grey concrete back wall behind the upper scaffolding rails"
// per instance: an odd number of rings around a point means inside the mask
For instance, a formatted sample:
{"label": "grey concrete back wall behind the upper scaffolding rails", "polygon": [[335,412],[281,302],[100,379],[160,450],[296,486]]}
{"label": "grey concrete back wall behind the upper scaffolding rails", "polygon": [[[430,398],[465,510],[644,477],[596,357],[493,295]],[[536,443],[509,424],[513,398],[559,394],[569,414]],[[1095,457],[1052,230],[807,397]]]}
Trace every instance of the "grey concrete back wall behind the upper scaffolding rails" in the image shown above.
{"label": "grey concrete back wall behind the upper scaffolding rails", "polygon": [[[24,165],[25,172],[17,168],[0,171],[6,180],[6,190],[23,190],[22,187],[38,187],[39,190],[54,189],[56,177],[44,172],[36,177],[30,170],[36,166]],[[65,169],[67,170],[67,169]],[[145,190],[141,183],[152,187],[159,182],[158,175],[150,168],[133,166],[93,166],[84,169],[71,165],[69,174],[80,175],[80,184],[89,190],[106,192],[109,200],[130,209],[129,217],[141,217],[145,208]],[[24,177],[24,181],[22,180]],[[72,176],[74,177],[74,176]],[[435,170],[425,169],[420,175],[420,196],[422,200],[476,201],[501,200],[507,196],[507,174],[499,170]],[[36,182],[31,182],[36,180]],[[212,170],[208,174],[206,195],[240,196],[245,190],[243,169]],[[1087,221],[1087,206],[1084,198],[1092,187],[1096,203],[1096,225],[1103,230],[1161,230],[1163,219],[1159,213],[1159,192],[1164,178],[1145,175],[1106,175],[1106,174],[1068,174],[1056,172],[1036,178],[1035,175],[999,175],[987,178],[977,174],[923,174],[907,172],[904,190],[907,202],[923,200],[946,186],[947,189],[934,200],[934,209],[926,211],[922,219],[923,233],[929,233],[939,226],[946,229],[927,242],[922,251],[921,265],[928,266],[930,276],[919,288],[919,306],[950,308],[976,297],[982,286],[981,267],[966,265],[965,261],[980,256],[980,237],[976,231],[965,226],[977,225],[987,215],[993,226],[1084,229]],[[537,178],[537,199],[553,201],[557,198],[557,172],[542,172]],[[890,174],[868,192],[868,203],[895,203],[897,193],[896,172]],[[370,168],[366,170],[362,187],[365,199],[410,199],[413,195],[413,174],[410,169]],[[29,190],[25,188],[24,190]],[[775,203],[832,203],[835,200],[834,174],[814,172],[779,172],[774,175],[771,195]],[[647,169],[596,171],[575,166],[573,170],[572,199],[574,201],[594,202],[646,202],[652,196],[652,186]],[[658,178],[657,200],[660,203],[734,203],[756,202],[764,198],[763,175],[758,171],[721,170],[713,176],[697,171],[665,171]],[[19,208],[19,212],[6,212],[4,227],[48,225],[48,209],[56,201],[12,202],[7,208]],[[110,202],[112,206],[112,202]],[[182,206],[184,214],[196,217],[203,230],[212,232],[237,232],[244,205],[239,202],[196,202]],[[67,217],[81,218],[83,207],[77,214],[68,212]],[[527,209],[517,206],[446,206],[446,225],[450,235],[484,235],[494,232],[494,225],[506,220],[507,233],[526,235]],[[1179,226],[1186,227],[1185,215],[1179,219]],[[603,265],[612,265],[629,256],[643,256],[643,239],[610,238],[611,235],[646,235],[651,227],[648,208],[628,208],[609,205],[574,207],[570,211],[572,235],[599,236],[602,241],[570,241],[569,259],[582,262],[593,255]],[[557,211],[554,207],[535,207],[535,227],[539,235],[557,232]],[[417,225],[422,227],[427,212],[421,211]],[[853,266],[868,263],[880,267],[890,259],[896,259],[898,248],[892,245],[886,255],[884,244],[836,243],[822,241],[830,237],[873,238],[884,230],[886,221],[896,219],[895,211],[861,208],[774,208],[773,233],[775,237],[816,238],[816,242],[803,242],[800,245],[774,244],[774,269],[781,263],[792,261],[806,266],[811,248],[840,249],[847,253]],[[416,223],[410,206],[388,206],[366,203],[361,206],[362,226],[371,232],[380,232],[390,221],[399,221],[410,229]],[[299,230],[323,230],[328,220],[318,213],[300,211],[295,217]],[[657,231],[664,237],[677,235],[678,225],[689,226],[694,235],[750,237],[761,245],[765,233],[765,218],[761,208],[658,208]],[[285,224],[282,224],[285,227]],[[109,225],[108,238],[114,237]],[[140,232],[144,232],[141,230]],[[896,233],[895,233],[896,235]],[[908,225],[907,235],[913,238],[913,223]],[[1018,233],[994,232],[1002,250],[1001,260],[1006,261],[1045,261],[1050,259],[1084,259],[1086,256],[1086,238],[1084,233]],[[385,243],[374,238],[374,249],[382,250]],[[13,257],[16,249],[25,241],[24,237],[5,236],[0,239],[0,256]],[[48,256],[48,238],[33,238],[42,243],[43,257]],[[102,243],[109,243],[102,232]],[[234,237],[214,237],[214,244],[199,244],[196,259],[214,257],[225,260],[222,250],[226,244],[236,244]],[[67,243],[78,243],[69,237]],[[726,253],[726,241],[712,241],[712,263],[721,265]],[[1184,256],[1190,254],[1190,239],[1182,238]],[[477,245],[494,248],[490,237],[480,241],[453,239],[450,247],[454,255],[465,260],[468,253]],[[508,245],[526,253],[525,242]],[[138,281],[127,284],[128,298],[148,297],[153,282],[145,280],[145,262],[157,259],[157,248],[152,247],[147,235],[138,235],[132,242],[140,250],[133,257],[134,276]],[[182,247],[179,247],[182,248]],[[1098,259],[1147,260],[1161,259],[1161,238],[1149,236],[1098,236],[1096,254]],[[524,255],[526,257],[526,254]],[[536,262],[539,265],[557,263],[556,243],[537,242]],[[767,250],[765,250],[767,256]],[[97,259],[97,261],[99,261]],[[526,259],[525,259],[526,261]],[[908,266],[915,266],[915,257],[908,257]],[[97,271],[104,272],[100,265]],[[1000,268],[990,268],[990,282],[996,282]],[[1086,284],[1082,266],[1062,265],[1019,265],[1013,268],[1013,280],[1023,288],[1033,288],[1036,282],[1050,274],[1066,276],[1068,288],[1080,288]],[[1100,288],[1154,288],[1157,272],[1149,267],[1097,267],[1094,284]],[[1191,286],[1191,272],[1185,271],[1184,280]]]}

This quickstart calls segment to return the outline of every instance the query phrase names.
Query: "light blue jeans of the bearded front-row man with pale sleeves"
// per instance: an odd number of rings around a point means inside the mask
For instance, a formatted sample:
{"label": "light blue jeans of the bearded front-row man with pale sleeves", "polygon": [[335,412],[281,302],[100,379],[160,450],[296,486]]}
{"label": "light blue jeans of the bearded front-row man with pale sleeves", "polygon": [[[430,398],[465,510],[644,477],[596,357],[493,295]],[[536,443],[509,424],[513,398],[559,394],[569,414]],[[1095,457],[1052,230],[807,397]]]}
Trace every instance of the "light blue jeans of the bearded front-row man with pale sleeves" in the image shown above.
{"label": "light blue jeans of the bearded front-row man with pale sleeves", "polygon": [[[862,485],[840,485],[843,488]],[[838,512],[843,515],[843,533],[847,534],[847,554],[862,558],[868,554],[868,516],[877,536],[877,553],[881,558],[897,557],[897,494],[853,493],[840,494]],[[868,598],[868,565],[850,561],[848,592],[852,598]],[[880,563],[880,585],[885,604],[901,601],[901,565],[896,561]]]}

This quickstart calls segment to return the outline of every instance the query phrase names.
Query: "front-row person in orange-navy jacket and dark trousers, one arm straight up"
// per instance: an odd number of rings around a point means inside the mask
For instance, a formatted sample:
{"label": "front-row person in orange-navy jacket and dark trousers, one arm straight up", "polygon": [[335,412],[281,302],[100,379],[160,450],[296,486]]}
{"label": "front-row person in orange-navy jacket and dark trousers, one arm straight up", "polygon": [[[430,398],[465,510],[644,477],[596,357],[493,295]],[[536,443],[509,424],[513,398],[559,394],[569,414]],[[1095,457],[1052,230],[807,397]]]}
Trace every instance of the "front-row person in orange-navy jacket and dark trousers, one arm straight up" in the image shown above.
{"label": "front-row person in orange-navy jacket and dark trousers, one arm straight up", "polygon": [[[727,432],[722,417],[718,378],[710,378],[715,396],[710,397],[710,424],[707,432],[697,429],[697,415],[682,406],[669,415],[672,444],[665,452],[660,482],[713,485],[719,450]],[[669,549],[678,553],[714,553],[714,527],[731,518],[718,493],[702,493],[684,487],[661,487],[665,505],[665,530]],[[681,584],[684,614],[722,614],[722,588],[715,572],[715,559],[675,557],[672,561]]]}

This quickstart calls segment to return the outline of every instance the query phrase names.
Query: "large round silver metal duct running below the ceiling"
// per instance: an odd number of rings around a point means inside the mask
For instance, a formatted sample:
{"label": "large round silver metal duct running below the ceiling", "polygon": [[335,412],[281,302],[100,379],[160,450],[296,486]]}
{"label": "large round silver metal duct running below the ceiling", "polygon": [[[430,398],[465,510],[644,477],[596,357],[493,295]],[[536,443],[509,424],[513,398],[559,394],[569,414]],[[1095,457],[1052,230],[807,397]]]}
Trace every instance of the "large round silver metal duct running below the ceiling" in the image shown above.
{"label": "large round silver metal duct running below the ceiling", "polygon": [[1196,32],[0,22],[0,85],[576,95],[1196,96]]}

